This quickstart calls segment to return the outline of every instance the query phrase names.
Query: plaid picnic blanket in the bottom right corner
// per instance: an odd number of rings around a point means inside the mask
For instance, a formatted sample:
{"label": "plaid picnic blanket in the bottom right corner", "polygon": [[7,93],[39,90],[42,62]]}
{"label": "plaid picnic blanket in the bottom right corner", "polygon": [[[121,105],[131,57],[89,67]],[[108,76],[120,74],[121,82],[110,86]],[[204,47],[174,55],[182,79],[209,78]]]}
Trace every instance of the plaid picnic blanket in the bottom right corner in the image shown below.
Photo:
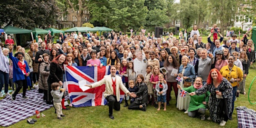
{"label": "plaid picnic blanket in the bottom right corner", "polygon": [[246,106],[235,107],[237,111],[237,127],[256,127],[256,111]]}

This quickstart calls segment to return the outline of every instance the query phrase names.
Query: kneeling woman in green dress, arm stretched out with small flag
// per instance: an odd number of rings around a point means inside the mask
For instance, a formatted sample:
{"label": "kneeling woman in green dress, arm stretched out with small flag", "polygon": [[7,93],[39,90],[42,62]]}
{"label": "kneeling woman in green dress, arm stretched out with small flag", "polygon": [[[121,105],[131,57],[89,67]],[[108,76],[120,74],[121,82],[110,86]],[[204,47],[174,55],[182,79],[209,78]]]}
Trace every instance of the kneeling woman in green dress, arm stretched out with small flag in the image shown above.
{"label": "kneeling woman in green dress, arm stretched out with small flag", "polygon": [[[202,87],[202,78],[196,77],[195,82],[192,86],[189,86],[187,88],[182,88],[179,84],[177,84],[177,87],[180,90],[185,90],[187,92],[195,91]],[[190,96],[190,103],[188,107],[188,116],[189,117],[195,117],[196,112],[199,112],[201,115],[201,120],[205,119],[204,113],[205,109],[207,108],[207,102],[209,100],[210,92],[206,91],[206,93],[203,93],[201,95],[193,95]]]}

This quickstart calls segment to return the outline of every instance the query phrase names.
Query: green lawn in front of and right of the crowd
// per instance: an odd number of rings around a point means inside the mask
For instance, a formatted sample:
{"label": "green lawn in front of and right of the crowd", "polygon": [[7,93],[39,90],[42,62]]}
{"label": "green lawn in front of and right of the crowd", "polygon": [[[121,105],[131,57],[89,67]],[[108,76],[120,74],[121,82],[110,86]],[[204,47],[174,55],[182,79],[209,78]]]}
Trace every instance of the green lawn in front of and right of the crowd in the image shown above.
{"label": "green lawn in front of and right of the crowd", "polygon": [[[203,37],[203,39],[207,37]],[[203,42],[206,42],[203,40]],[[253,65],[256,66],[255,63]],[[252,79],[256,76],[256,69],[250,68],[246,78],[245,90],[248,93],[249,85]],[[254,82],[255,83],[255,82]],[[256,87],[252,84],[250,90],[250,101],[256,102]],[[171,92],[174,98],[174,92]],[[63,110],[66,115],[63,120],[58,120],[54,113],[54,108],[51,107],[45,111],[45,117],[36,118],[35,124],[28,124],[25,120],[10,125],[9,127],[220,127],[217,123],[210,120],[200,120],[199,117],[188,117],[183,111],[175,107],[175,101],[172,99],[167,110],[157,111],[156,108],[149,105],[146,111],[128,110],[121,103],[120,111],[113,110],[115,119],[108,117],[108,106],[89,106],[89,107],[71,107],[71,110]],[[256,110],[256,104],[248,102],[248,95],[240,94],[236,106],[246,106]],[[206,117],[209,116],[209,111],[206,111]],[[237,127],[236,110],[233,112],[233,120],[228,120],[224,127]]]}

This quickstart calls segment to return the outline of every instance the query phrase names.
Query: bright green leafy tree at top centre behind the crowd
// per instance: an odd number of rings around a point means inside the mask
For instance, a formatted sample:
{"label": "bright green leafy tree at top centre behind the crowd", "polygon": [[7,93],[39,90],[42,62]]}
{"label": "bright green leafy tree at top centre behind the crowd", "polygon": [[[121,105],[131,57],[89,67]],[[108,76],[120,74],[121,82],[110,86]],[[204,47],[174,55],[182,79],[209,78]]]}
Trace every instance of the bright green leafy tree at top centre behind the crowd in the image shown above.
{"label": "bright green leafy tree at top centre behind the crowd", "polygon": [[113,27],[119,27],[125,33],[128,27],[144,24],[147,13],[144,0],[109,0],[109,3],[109,16]]}

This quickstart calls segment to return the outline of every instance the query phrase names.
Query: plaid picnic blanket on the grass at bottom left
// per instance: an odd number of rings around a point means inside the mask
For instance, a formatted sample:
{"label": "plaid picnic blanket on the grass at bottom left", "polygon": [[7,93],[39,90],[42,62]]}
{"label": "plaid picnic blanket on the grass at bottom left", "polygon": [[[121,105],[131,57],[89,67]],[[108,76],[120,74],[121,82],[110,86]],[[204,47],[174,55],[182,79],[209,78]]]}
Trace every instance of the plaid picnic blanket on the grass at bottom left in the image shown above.
{"label": "plaid picnic blanket on the grass at bottom left", "polygon": [[22,98],[22,93],[16,95],[16,100],[12,101],[7,95],[0,100],[0,125],[9,126],[26,119],[35,114],[35,110],[44,111],[52,105],[43,102],[43,94],[38,90],[26,91],[28,99]]}

